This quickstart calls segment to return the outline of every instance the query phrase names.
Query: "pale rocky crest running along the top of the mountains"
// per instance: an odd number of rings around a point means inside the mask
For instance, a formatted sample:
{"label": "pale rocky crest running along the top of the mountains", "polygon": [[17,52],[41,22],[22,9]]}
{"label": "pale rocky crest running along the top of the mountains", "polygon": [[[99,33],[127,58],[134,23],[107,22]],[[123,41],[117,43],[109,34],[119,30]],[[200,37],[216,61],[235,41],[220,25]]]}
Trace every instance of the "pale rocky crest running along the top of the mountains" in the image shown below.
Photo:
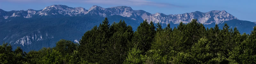
{"label": "pale rocky crest running along the top of the mountains", "polygon": [[[4,10],[3,10],[4,11]],[[4,11],[6,12],[6,11]],[[10,11],[11,12],[11,11]],[[22,14],[23,13],[23,14]],[[209,11],[209,12],[190,12],[190,13],[183,13],[183,14],[169,14],[166,15],[164,13],[148,13],[143,10],[133,10],[131,7],[128,6],[116,6],[116,7],[109,7],[103,8],[97,5],[93,5],[90,9],[85,9],[82,7],[68,7],[67,5],[51,5],[46,6],[42,10],[20,10],[20,11],[13,11],[11,14],[6,14],[1,17],[4,19],[10,17],[20,17],[23,16],[24,18],[31,18],[33,16],[48,16],[48,15],[64,15],[64,16],[82,16],[82,15],[100,15],[102,17],[108,17],[112,15],[120,15],[123,17],[130,17],[133,20],[143,21],[145,19],[149,21],[153,21],[154,23],[174,23],[178,24],[180,21],[183,23],[188,23],[192,19],[197,19],[200,23],[203,24],[219,24],[221,21],[224,20],[233,20],[237,19],[230,13],[226,11]],[[137,18],[137,19],[136,19]],[[237,19],[239,20],[239,19]]]}

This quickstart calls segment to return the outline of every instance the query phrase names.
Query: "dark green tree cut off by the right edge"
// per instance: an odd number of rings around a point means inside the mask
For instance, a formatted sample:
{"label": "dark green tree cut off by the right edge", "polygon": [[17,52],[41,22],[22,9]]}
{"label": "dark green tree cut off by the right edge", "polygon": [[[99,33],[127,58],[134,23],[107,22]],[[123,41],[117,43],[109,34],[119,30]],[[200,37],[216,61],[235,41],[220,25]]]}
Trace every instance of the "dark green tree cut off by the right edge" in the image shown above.
{"label": "dark green tree cut off by the right edge", "polygon": [[[246,38],[247,37],[247,38]],[[242,35],[243,42],[238,42],[238,45],[229,52],[229,59],[232,63],[239,64],[254,64],[256,63],[256,26],[250,36]]]}

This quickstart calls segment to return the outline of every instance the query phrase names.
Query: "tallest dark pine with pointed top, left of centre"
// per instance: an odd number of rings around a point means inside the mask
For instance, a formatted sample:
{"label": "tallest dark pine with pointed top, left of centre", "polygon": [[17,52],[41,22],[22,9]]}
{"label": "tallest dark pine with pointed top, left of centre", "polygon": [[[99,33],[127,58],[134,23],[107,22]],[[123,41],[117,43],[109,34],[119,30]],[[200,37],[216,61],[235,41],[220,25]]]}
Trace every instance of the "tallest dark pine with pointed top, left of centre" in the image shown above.
{"label": "tallest dark pine with pointed top, left of centre", "polygon": [[104,63],[107,60],[107,54],[104,51],[111,36],[108,19],[102,21],[100,26],[95,26],[87,31],[79,44],[79,53],[89,63]]}

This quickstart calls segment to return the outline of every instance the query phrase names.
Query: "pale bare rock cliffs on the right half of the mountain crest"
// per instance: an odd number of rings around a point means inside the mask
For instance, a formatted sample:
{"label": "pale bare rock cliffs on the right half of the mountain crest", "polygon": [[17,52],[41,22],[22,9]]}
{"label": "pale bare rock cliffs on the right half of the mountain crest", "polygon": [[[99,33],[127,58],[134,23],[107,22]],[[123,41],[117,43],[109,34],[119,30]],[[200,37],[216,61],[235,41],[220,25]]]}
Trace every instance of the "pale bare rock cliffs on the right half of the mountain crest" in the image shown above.
{"label": "pale bare rock cliffs on the right half of the mountain crest", "polygon": [[[191,12],[191,13],[184,13],[184,14],[175,14],[175,15],[165,15],[163,13],[155,13],[142,16],[143,19],[149,19],[149,21],[153,21],[154,23],[174,23],[179,24],[180,22],[189,23],[192,19],[197,19],[200,23],[203,24],[212,24],[216,23],[219,24],[221,21],[224,20],[233,20],[237,19],[233,15],[229,14],[226,11],[210,11],[210,12]],[[238,20],[238,19],[237,19]]]}

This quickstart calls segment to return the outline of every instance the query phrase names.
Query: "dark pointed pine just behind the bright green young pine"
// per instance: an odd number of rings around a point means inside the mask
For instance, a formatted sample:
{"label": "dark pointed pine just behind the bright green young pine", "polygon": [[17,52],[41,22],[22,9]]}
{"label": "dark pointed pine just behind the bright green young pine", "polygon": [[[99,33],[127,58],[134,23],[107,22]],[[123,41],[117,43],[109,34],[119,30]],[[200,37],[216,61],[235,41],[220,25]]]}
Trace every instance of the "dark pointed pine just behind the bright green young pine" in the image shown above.
{"label": "dark pointed pine just behind the bright green young pine", "polygon": [[154,40],[155,33],[156,29],[153,22],[151,21],[148,24],[148,21],[144,20],[143,23],[140,23],[137,31],[134,32],[130,47],[138,45],[142,53],[147,52]]}

